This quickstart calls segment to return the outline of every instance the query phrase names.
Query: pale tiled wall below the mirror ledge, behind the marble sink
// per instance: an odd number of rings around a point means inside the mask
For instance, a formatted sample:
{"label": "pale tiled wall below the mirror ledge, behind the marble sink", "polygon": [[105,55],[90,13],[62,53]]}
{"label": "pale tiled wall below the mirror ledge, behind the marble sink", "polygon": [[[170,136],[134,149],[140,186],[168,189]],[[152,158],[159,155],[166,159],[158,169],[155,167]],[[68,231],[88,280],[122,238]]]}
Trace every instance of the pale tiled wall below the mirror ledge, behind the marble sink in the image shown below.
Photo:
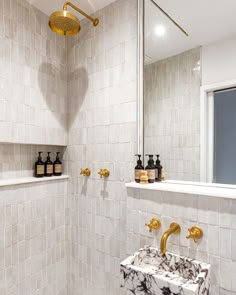
{"label": "pale tiled wall below the mirror ledge, behind the marble sink", "polygon": [[[149,233],[145,223],[160,219],[162,226]],[[212,295],[236,294],[236,200],[206,196],[128,189],[127,255],[144,245],[159,247],[171,222],[180,224],[180,235],[168,239],[174,253],[212,265]],[[195,244],[187,240],[188,228],[200,226],[204,237]]]}

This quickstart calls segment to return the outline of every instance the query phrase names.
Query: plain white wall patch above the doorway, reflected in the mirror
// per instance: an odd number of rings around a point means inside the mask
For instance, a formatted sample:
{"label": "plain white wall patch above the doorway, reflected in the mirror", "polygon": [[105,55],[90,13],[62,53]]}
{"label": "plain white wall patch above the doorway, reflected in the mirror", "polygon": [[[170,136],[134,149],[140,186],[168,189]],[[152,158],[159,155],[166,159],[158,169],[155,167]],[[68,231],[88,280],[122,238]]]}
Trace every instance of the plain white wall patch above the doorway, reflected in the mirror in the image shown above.
{"label": "plain white wall patch above the doorway, reflected in the mirror", "polygon": [[202,47],[202,85],[236,79],[236,38]]}

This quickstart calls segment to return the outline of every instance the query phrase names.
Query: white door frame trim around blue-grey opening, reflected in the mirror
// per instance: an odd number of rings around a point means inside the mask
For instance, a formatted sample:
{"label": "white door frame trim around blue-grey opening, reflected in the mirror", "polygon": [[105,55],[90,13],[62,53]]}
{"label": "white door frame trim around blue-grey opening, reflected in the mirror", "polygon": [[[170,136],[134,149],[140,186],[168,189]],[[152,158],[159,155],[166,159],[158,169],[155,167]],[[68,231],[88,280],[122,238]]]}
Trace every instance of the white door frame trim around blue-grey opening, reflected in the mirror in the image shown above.
{"label": "white door frame trim around blue-grey opening, reflected in the mirror", "polygon": [[213,92],[236,87],[236,80],[200,88],[200,181],[213,182],[214,175],[214,97]]}

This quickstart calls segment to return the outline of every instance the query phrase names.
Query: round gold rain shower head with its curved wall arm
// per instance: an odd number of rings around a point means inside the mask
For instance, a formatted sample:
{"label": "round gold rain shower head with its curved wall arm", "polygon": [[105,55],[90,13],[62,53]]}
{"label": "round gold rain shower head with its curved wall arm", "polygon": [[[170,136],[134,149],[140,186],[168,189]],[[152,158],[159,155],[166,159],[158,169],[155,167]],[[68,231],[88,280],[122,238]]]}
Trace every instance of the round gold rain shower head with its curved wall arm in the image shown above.
{"label": "round gold rain shower head with its curved wall arm", "polygon": [[63,10],[56,11],[49,17],[48,25],[54,33],[72,36],[78,34],[80,31],[79,19],[73,13],[67,10],[67,6],[72,7],[74,10],[85,16],[93,23],[95,27],[99,24],[99,20],[97,18],[92,18],[90,15],[82,11],[79,7],[75,6],[71,2],[65,2]]}

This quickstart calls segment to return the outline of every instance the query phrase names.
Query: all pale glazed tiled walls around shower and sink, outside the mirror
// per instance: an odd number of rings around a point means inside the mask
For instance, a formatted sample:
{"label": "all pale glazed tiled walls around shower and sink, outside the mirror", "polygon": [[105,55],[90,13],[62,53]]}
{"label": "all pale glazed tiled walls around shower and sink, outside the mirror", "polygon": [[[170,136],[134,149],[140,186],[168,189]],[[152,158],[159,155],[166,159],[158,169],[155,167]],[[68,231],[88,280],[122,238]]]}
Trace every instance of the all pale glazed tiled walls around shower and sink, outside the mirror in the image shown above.
{"label": "all pale glazed tiled walls around shower and sink, outside the mirror", "polygon": [[[100,25],[83,21],[66,45],[27,2],[0,1],[1,140],[65,144],[68,106],[71,175],[69,193],[67,181],[0,189],[0,294],[125,294],[119,263],[144,244],[159,244],[161,231],[150,236],[144,226],[157,215],[162,231],[172,220],[183,228],[170,250],[213,264],[212,294],[235,295],[234,201],[139,190],[127,199],[136,142],[136,1],[118,0],[96,15]],[[39,149],[48,147],[1,145],[2,178],[31,174]],[[85,167],[89,178],[80,176]],[[110,170],[109,179],[99,178],[100,168]],[[205,232],[197,247],[185,239],[192,224]]]}

